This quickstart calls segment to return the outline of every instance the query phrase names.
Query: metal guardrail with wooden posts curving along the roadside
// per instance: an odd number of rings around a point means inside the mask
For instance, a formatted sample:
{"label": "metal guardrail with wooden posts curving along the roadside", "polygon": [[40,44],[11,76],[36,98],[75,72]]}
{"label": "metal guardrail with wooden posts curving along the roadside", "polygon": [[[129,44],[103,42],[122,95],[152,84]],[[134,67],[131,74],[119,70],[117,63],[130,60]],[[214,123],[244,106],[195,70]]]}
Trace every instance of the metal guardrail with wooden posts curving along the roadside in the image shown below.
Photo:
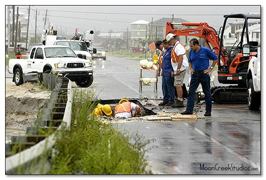
{"label": "metal guardrail with wooden posts curving along the roadside", "polygon": [[[28,127],[25,136],[12,136],[6,144],[6,174],[45,174],[50,169],[48,152],[55,145],[54,131],[70,127],[72,81],[50,74],[43,74],[42,81],[52,89],[50,99],[35,126]],[[43,131],[52,133],[42,135]]]}

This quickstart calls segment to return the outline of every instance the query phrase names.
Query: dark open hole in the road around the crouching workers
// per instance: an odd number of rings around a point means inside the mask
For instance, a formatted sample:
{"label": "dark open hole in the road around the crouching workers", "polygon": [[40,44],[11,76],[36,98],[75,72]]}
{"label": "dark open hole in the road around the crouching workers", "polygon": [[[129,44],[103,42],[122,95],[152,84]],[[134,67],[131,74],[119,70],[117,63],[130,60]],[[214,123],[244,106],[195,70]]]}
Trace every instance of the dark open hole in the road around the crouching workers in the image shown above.
{"label": "dark open hole in the road around the crouching workers", "polygon": [[[136,99],[128,99],[130,102],[135,103],[137,105],[139,105],[141,107],[141,116],[146,116],[146,115],[156,115],[155,112],[153,112],[150,109],[147,109],[145,106],[143,106],[138,100]],[[112,108],[112,116],[114,117],[114,113],[115,113],[115,107],[118,105],[120,99],[118,100],[100,100],[99,103],[101,104],[109,104]]]}

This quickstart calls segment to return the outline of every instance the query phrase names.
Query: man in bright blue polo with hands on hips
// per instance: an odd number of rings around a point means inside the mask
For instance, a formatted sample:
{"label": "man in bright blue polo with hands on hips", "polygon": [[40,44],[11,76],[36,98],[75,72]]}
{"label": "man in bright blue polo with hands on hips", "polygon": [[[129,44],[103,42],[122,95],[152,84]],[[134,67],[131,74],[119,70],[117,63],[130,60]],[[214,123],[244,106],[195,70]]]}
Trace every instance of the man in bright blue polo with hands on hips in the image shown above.
{"label": "man in bright blue polo with hands on hips", "polygon": [[[187,110],[180,114],[193,114],[195,92],[199,84],[202,86],[205,95],[205,114],[211,116],[212,99],[210,94],[210,77],[209,72],[215,67],[218,61],[217,55],[206,47],[201,47],[197,39],[190,40],[189,66],[191,71],[191,81],[188,94]],[[209,60],[213,62],[209,67]]]}

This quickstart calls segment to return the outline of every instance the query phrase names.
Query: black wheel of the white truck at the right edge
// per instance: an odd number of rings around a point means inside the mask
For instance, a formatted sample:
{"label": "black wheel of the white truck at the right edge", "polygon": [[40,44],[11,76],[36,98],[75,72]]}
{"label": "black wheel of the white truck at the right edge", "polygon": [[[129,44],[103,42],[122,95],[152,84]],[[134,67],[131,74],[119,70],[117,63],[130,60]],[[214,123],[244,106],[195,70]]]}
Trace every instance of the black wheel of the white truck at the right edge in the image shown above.
{"label": "black wheel of the white truck at the right edge", "polygon": [[248,83],[248,108],[249,110],[259,110],[260,108],[260,93],[254,91],[252,79]]}

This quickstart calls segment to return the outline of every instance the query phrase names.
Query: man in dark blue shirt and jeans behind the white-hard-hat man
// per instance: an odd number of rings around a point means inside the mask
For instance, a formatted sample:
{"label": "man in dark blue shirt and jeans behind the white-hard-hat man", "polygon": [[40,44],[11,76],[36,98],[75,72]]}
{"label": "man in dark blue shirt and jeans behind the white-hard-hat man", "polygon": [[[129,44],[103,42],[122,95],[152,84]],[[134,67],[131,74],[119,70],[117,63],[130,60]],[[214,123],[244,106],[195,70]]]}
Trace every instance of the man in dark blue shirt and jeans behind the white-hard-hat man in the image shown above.
{"label": "man in dark blue shirt and jeans behind the white-hard-hat man", "polygon": [[174,72],[172,64],[171,64],[171,52],[173,50],[173,46],[171,46],[166,40],[163,41],[165,44],[165,51],[163,53],[162,58],[162,89],[163,89],[163,102],[159,103],[159,106],[171,106],[175,103],[175,87],[174,81],[171,77],[172,72]]}

